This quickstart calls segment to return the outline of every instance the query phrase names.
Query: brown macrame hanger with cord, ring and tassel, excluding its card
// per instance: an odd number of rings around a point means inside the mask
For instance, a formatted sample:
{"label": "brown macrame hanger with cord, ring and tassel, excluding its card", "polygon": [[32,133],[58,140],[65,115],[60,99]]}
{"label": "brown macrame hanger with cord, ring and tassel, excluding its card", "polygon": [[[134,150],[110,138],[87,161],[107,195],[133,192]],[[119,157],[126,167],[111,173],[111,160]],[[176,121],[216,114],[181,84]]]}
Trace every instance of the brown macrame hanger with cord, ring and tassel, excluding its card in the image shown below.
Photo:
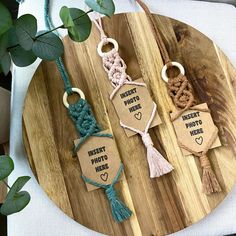
{"label": "brown macrame hanger with cord, ring and tassel, excluding its card", "polygon": [[[175,121],[178,119],[184,112],[188,110],[195,110],[199,112],[207,112],[210,113],[208,108],[199,108],[195,107],[196,100],[194,98],[193,88],[189,83],[187,77],[184,75],[185,70],[183,66],[178,62],[172,62],[168,51],[165,47],[165,44],[161,38],[161,34],[156,26],[154,18],[146,6],[146,4],[142,0],[136,0],[139,5],[143,8],[147,17],[151,23],[152,30],[154,32],[157,45],[160,49],[162,59],[164,61],[164,67],[162,69],[162,78],[167,83],[168,93],[173,100],[175,107],[177,108],[177,112],[171,117],[171,121]],[[167,77],[167,70],[171,67],[177,67],[180,70],[180,74],[174,78]],[[215,140],[218,138],[218,128],[214,125],[214,130],[212,132],[211,137],[209,138],[208,142],[206,143],[204,150],[201,152],[196,152],[189,148],[188,146],[184,145],[180,141],[178,141],[179,146],[192,153],[193,155],[197,156],[200,160],[200,165],[202,167],[202,188],[205,194],[211,194],[216,192],[221,192],[221,187],[217,181],[216,175],[213,172],[211,163],[208,159],[207,152],[212,147]]]}

